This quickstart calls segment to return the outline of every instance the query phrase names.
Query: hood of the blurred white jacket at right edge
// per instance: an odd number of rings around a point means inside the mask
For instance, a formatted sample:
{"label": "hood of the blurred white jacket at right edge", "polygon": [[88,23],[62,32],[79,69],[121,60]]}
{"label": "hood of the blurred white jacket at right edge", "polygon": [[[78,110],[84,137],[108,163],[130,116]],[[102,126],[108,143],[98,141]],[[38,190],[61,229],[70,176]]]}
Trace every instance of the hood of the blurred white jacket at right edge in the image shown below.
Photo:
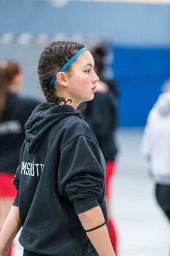
{"label": "hood of the blurred white jacket at right edge", "polygon": [[159,96],[155,107],[159,114],[167,115],[170,114],[170,92],[164,92]]}

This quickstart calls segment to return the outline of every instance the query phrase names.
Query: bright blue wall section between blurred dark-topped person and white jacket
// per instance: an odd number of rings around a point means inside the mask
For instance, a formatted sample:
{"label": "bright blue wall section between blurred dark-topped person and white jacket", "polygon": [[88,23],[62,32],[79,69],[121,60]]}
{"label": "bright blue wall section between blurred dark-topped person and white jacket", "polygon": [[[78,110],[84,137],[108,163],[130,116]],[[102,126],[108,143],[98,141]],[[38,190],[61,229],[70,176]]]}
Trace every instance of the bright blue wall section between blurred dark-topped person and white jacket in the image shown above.
{"label": "bright blue wall section between blurred dark-topped person and white jacket", "polygon": [[120,87],[119,122],[142,127],[165,80],[170,78],[170,48],[113,48],[113,70]]}

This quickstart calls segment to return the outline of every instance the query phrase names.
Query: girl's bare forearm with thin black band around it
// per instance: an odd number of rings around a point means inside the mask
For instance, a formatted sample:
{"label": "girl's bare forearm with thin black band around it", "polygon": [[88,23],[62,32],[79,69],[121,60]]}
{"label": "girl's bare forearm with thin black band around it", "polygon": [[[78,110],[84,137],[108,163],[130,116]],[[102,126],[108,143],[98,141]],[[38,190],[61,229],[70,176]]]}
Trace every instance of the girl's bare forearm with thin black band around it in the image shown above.
{"label": "girl's bare forearm with thin black band around it", "polygon": [[[84,230],[91,230],[105,223],[100,206],[91,208],[91,210],[80,213],[78,216]],[[86,232],[86,235],[91,240],[99,256],[115,256],[106,224]]]}

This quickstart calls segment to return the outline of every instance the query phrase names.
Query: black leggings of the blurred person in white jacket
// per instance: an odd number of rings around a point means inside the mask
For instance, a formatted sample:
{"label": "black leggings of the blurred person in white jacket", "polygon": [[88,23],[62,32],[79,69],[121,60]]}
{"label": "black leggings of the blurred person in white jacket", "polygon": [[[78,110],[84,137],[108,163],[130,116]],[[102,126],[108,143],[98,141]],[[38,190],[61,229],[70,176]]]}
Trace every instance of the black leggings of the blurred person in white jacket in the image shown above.
{"label": "black leggings of the blurred person in white jacket", "polygon": [[159,206],[170,221],[170,185],[156,184],[155,194]]}

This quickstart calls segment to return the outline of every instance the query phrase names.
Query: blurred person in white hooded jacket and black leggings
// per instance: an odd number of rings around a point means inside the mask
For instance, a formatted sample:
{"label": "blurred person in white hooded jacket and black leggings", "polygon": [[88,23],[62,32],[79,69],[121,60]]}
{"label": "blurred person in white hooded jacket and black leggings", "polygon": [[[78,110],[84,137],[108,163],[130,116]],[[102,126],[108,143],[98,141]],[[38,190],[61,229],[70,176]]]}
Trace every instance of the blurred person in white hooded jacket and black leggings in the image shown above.
{"label": "blurred person in white hooded jacket and black leggings", "polygon": [[157,203],[170,221],[170,80],[147,117],[142,155],[155,184]]}

